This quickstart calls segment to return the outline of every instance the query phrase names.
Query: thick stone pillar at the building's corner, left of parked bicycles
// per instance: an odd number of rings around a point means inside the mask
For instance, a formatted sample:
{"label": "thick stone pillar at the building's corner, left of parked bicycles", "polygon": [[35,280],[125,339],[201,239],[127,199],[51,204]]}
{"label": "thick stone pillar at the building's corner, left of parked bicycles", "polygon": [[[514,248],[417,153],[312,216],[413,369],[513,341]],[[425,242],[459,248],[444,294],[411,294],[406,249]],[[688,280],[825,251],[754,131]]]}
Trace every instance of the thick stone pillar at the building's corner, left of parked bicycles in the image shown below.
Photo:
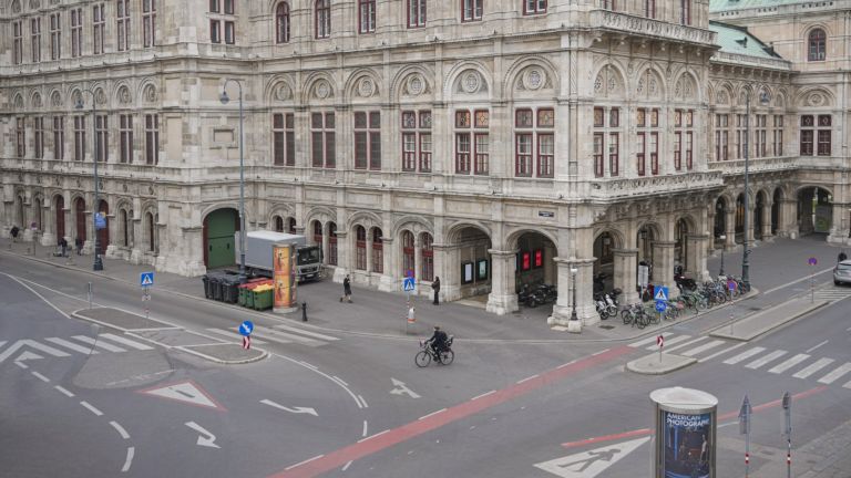
{"label": "thick stone pillar at the building's corner, left of parked bicycles", "polygon": [[[580,332],[583,326],[593,325],[599,322],[599,314],[594,308],[594,262],[596,258],[591,259],[554,259],[558,264],[558,301],[553,305],[553,314],[547,318],[550,325],[562,325],[571,328],[572,332]],[[576,283],[573,282],[571,269],[576,269]],[[573,288],[576,288],[576,316],[580,326],[571,324],[571,314],[573,313]]]}

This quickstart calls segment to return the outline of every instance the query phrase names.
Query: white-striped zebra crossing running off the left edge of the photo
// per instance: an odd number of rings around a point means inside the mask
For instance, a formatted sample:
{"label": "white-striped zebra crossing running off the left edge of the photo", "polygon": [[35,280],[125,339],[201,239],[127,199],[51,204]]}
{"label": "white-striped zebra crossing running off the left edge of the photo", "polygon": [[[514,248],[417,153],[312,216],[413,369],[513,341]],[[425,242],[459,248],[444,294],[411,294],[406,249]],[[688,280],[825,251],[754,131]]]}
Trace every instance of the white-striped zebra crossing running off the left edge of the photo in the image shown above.
{"label": "white-striped zebra crossing running off the left edge of the photo", "polygon": [[73,355],[96,355],[102,352],[125,353],[130,351],[151,351],[154,347],[136,340],[113,333],[103,333],[96,337],[73,335],[70,337],[20,339],[0,341],[0,363],[12,358],[14,362],[44,358],[51,356],[65,358]]}

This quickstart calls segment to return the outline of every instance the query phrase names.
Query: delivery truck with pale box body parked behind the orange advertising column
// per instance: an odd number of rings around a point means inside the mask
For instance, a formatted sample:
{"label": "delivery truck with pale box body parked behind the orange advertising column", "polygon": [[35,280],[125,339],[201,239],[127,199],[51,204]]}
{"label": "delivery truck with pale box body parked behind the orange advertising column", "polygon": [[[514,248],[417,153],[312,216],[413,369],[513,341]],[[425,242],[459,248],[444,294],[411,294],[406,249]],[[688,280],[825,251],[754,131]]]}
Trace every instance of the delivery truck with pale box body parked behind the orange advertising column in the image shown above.
{"label": "delivery truck with pale box body parked behind the orange advertising column", "polygon": [[[319,246],[308,246],[304,236],[265,230],[245,233],[246,273],[270,278],[271,246],[276,243],[296,248],[296,273],[299,282],[321,279],[322,250]],[[236,232],[236,263],[239,264],[239,232]]]}

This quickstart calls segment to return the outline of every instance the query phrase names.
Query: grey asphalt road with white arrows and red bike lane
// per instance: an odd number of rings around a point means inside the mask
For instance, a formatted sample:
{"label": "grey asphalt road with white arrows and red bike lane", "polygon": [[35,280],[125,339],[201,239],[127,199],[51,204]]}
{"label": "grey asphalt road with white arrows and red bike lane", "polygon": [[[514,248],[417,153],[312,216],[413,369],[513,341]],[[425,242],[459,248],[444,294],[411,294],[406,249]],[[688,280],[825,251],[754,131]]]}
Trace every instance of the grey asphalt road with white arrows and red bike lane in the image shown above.
{"label": "grey asphalt road with white arrows and red bike lane", "polygon": [[[799,464],[797,449],[818,445],[851,417],[851,388],[843,387],[851,374],[819,382],[851,362],[848,300],[727,353],[720,352],[736,344],[708,346],[712,340],[698,324],[675,328],[669,342],[679,334],[687,344],[677,353],[706,360],[665,376],[624,371],[625,362],[650,353],[639,341],[459,341],[451,366],[417,368],[413,337],[321,340],[291,322],[288,331],[303,340],[269,340],[258,345],[269,358],[223,366],[65,316],[88,306],[90,281],[95,304],[141,312],[137,288],[12,256],[2,257],[2,272],[0,357],[18,345],[0,361],[4,477],[650,476],[648,395],[666,386],[719,398],[724,477],[744,471],[744,440],[729,424],[747,393],[756,409],[751,470],[759,470],[751,476],[768,477],[785,466],[777,404],[783,392],[796,396],[793,463],[801,470],[817,467],[808,463],[816,457],[802,451]],[[277,324],[164,293],[155,294],[152,316],[206,336],[224,336],[246,319]],[[156,340],[187,339],[157,332]],[[763,350],[725,363],[753,347]],[[755,364],[770,354],[776,358]],[[787,360],[798,362],[780,371]]]}

